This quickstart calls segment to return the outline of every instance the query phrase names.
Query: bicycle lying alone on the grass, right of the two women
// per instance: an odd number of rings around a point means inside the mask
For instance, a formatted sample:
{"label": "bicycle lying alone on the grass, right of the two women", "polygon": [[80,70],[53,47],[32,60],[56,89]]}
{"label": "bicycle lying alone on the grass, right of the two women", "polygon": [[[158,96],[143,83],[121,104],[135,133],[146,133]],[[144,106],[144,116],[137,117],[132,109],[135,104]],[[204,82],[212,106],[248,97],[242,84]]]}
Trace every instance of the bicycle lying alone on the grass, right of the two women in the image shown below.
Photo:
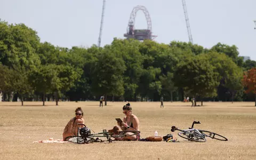
{"label": "bicycle lying alone on the grass, right of the two women", "polygon": [[226,137],[223,137],[220,134],[210,132],[210,131],[205,131],[205,130],[199,130],[199,129],[194,129],[194,124],[201,124],[199,121],[196,122],[194,121],[191,128],[189,127],[188,130],[179,130],[177,127],[172,126],[171,131],[174,132],[175,130],[181,131],[178,133],[178,135],[182,138],[185,138],[190,141],[196,141],[196,142],[205,142],[206,137],[210,137],[211,139],[217,139],[220,141],[227,141],[228,139]]}

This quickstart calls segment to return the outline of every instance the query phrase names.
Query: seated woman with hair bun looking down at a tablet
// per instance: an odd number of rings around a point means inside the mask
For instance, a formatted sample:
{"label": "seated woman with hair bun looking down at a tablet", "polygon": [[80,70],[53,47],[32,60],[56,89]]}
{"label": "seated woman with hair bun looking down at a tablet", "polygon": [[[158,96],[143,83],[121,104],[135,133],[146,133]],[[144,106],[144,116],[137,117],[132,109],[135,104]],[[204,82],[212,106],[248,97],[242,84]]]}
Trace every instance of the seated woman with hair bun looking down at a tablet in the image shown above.
{"label": "seated woman with hair bun looking down at a tablet", "polygon": [[[131,130],[139,131],[140,122],[138,117],[132,113],[132,107],[130,103],[127,103],[126,105],[123,106],[123,114],[125,115],[123,119],[123,123],[117,122],[121,130],[122,131],[131,131]],[[139,133],[137,135],[132,135],[132,134],[134,133],[127,132],[126,135],[131,135],[131,136],[127,136],[125,138],[121,138],[118,140],[140,140]]]}

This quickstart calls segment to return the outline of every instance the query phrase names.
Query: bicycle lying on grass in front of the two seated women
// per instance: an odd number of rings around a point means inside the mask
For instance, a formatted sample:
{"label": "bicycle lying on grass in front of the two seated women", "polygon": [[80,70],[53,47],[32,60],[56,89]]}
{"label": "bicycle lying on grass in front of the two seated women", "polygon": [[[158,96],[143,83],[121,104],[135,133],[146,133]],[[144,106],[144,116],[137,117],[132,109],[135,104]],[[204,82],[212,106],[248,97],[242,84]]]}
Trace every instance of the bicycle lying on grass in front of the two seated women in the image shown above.
{"label": "bicycle lying on grass in front of the two seated women", "polygon": [[[91,133],[91,130],[88,127],[86,127],[86,125],[84,124],[79,124],[79,125],[83,125],[84,127],[82,127],[81,129],[78,127],[77,135],[66,137],[65,140],[76,142],[78,144],[83,144],[83,143],[89,143],[89,142],[104,142],[104,140],[99,139],[99,137],[106,137],[107,141],[111,143],[113,141],[111,138],[124,138],[132,135],[137,135],[140,133],[140,131],[136,131],[136,130],[119,131],[118,133],[107,132],[107,130],[103,130],[100,133]],[[127,132],[131,132],[133,134],[126,135]]]}

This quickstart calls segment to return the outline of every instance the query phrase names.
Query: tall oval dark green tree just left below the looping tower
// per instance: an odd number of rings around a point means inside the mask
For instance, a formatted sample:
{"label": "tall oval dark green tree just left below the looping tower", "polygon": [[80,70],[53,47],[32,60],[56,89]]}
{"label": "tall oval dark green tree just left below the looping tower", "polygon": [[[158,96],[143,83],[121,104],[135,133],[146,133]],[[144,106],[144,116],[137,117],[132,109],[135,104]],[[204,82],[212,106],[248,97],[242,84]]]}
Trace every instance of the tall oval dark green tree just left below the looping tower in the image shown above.
{"label": "tall oval dark green tree just left below the looping tower", "polygon": [[92,77],[92,90],[96,94],[105,94],[105,106],[107,105],[107,95],[123,95],[124,82],[123,73],[125,71],[124,61],[115,49],[110,46],[97,55]]}

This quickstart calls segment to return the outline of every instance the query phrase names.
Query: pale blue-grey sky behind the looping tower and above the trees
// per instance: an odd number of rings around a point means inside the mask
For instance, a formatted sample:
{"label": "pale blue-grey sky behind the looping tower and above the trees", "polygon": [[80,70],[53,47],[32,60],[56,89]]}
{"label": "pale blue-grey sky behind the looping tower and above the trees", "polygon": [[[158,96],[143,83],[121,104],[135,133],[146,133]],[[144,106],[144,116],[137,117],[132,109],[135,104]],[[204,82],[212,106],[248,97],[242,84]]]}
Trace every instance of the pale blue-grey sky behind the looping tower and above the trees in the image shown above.
{"label": "pale blue-grey sky behind the looping tower and above the trees", "polygon": [[[90,47],[98,43],[103,0],[0,0],[0,18],[25,23],[35,29],[42,42],[62,47]],[[194,43],[210,48],[236,45],[239,55],[256,60],[255,0],[186,0]],[[124,38],[133,7],[149,11],[158,43],[188,42],[181,0],[107,0],[101,46],[114,37]],[[135,28],[147,28],[138,11]]]}

